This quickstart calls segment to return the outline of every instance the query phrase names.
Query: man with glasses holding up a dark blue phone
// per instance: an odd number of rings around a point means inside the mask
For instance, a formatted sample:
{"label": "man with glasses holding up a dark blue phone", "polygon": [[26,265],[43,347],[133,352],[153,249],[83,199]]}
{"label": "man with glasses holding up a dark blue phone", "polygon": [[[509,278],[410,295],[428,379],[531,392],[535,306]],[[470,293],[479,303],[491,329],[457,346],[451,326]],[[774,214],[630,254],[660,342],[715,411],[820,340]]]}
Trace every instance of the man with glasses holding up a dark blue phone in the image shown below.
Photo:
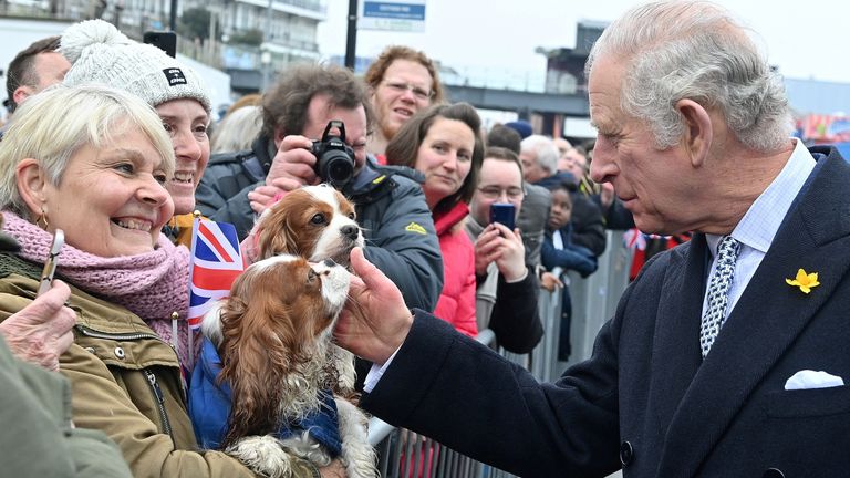
{"label": "man with glasses holding up a dark blue phone", "polygon": [[510,214],[506,222],[516,220],[522,208],[524,186],[517,154],[488,147],[464,224],[475,245],[478,329],[493,330],[497,345],[514,353],[530,352],[543,336],[537,310],[538,283],[526,263],[519,229],[491,219]]}

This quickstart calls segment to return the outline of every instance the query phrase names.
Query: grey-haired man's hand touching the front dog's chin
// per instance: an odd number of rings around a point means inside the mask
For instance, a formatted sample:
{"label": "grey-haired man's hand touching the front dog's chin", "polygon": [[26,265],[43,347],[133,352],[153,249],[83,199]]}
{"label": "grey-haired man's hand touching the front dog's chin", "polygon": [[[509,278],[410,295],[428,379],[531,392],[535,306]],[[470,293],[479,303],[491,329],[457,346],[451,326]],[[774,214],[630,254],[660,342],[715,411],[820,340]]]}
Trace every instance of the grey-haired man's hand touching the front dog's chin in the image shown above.
{"label": "grey-haired man's hand touching the front dog's chin", "polygon": [[383,365],[402,346],[413,315],[398,288],[363,256],[351,251],[349,302],[334,330],[336,343],[355,355]]}

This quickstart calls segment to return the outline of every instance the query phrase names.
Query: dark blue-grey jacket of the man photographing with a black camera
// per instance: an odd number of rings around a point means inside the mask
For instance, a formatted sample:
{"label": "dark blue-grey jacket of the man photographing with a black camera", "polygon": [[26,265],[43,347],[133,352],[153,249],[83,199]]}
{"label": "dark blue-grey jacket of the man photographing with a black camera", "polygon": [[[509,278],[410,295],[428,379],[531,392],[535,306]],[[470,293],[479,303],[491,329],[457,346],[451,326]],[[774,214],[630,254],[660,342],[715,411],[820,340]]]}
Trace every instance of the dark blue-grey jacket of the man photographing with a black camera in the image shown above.
{"label": "dark blue-grey jacket of the man photographing with a black camera", "polygon": [[[239,240],[253,227],[248,193],[265,184],[273,150],[260,136],[250,150],[212,156],[195,194],[200,212],[236,226]],[[369,159],[342,193],[356,205],[366,259],[401,289],[408,306],[433,311],[443,290],[443,258],[421,181],[413,169]]]}

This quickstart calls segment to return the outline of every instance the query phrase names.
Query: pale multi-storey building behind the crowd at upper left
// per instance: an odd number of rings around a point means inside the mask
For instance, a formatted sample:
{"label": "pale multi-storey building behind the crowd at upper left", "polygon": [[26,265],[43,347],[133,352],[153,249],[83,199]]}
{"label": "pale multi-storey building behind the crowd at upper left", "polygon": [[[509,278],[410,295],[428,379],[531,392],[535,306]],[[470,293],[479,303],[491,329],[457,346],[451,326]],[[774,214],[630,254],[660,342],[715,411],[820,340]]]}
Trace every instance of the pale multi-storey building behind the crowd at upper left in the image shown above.
{"label": "pale multi-storey building behind the crowd at upper left", "polygon": [[[288,65],[320,56],[317,28],[328,11],[322,1],[179,0],[175,4],[178,53],[230,73],[235,94],[262,90]],[[0,17],[64,24],[100,18],[141,41],[146,31],[170,30],[172,0],[0,0]]]}

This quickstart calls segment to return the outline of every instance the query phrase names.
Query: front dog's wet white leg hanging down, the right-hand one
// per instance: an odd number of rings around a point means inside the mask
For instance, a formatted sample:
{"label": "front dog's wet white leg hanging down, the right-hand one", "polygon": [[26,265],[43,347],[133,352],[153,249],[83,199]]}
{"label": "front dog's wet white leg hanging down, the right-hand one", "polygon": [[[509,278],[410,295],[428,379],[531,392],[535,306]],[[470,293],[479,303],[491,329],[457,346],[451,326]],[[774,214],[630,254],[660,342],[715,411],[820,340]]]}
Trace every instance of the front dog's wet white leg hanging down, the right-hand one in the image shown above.
{"label": "front dog's wet white leg hanging down, the right-hand one", "polygon": [[377,455],[369,444],[366,415],[351,402],[336,398],[342,460],[349,478],[377,478]]}

